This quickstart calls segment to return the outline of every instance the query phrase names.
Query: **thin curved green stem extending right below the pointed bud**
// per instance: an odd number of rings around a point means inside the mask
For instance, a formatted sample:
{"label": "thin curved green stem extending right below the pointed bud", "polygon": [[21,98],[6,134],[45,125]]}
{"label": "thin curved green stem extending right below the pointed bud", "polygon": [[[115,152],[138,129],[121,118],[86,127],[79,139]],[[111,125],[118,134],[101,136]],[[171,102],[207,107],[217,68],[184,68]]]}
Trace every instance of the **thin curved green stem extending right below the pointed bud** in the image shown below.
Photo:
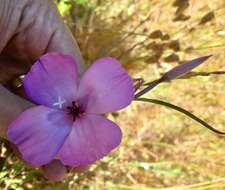
{"label": "thin curved green stem extending right below the pointed bud", "polygon": [[217,133],[219,135],[225,135],[225,132],[221,132],[221,131],[213,128],[211,125],[209,125],[208,123],[206,123],[202,119],[198,118],[197,116],[195,116],[191,112],[189,112],[189,111],[187,111],[187,110],[185,110],[185,109],[183,109],[179,106],[173,105],[173,104],[168,103],[168,102],[164,102],[162,100],[149,99],[149,98],[138,98],[138,99],[136,99],[136,101],[148,102],[148,103],[158,104],[158,105],[162,105],[162,106],[171,108],[173,110],[176,110],[178,112],[183,113],[184,115],[188,116],[189,118],[193,119],[194,121],[200,123],[201,125],[203,125],[207,129],[209,129],[210,131],[213,131],[214,133]]}

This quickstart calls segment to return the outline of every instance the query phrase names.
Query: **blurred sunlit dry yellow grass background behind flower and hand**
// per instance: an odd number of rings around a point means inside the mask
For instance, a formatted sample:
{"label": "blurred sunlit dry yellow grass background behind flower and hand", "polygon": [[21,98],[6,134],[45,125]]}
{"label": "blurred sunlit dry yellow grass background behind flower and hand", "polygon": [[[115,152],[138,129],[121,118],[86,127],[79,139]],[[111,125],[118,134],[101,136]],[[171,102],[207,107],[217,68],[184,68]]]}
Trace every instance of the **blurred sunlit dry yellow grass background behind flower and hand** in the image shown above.
{"label": "blurred sunlit dry yellow grass background behind flower and hand", "polygon": [[[225,1],[58,0],[90,65],[120,60],[146,82],[187,60],[213,54],[181,79],[145,95],[183,107],[225,131]],[[134,102],[110,114],[123,141],[108,157],[62,182],[47,181],[1,142],[0,187],[69,190],[225,189],[225,137],[158,105]]]}

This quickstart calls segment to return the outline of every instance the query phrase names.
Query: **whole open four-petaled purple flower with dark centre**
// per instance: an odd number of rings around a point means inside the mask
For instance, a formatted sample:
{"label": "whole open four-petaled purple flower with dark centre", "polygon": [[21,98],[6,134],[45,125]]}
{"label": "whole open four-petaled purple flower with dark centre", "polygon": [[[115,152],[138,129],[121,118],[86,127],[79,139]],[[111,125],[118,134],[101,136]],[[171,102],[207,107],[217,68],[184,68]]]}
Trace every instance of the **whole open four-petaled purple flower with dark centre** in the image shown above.
{"label": "whole open four-petaled purple flower with dark centre", "polygon": [[97,60],[79,80],[71,56],[49,53],[32,66],[23,84],[38,106],[9,126],[8,137],[32,165],[54,158],[73,167],[91,164],[120,144],[120,128],[103,117],[134,97],[133,81],[117,60]]}

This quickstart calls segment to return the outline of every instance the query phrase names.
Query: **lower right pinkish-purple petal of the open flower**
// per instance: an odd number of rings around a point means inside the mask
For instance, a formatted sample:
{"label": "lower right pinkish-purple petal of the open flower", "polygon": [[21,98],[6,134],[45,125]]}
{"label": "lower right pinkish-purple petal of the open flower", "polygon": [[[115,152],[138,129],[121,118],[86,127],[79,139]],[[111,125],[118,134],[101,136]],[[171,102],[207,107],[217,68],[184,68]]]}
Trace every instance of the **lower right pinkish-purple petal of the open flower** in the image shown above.
{"label": "lower right pinkish-purple petal of the open flower", "polygon": [[63,164],[87,165],[101,159],[121,142],[120,128],[98,115],[85,115],[76,120],[59,151]]}

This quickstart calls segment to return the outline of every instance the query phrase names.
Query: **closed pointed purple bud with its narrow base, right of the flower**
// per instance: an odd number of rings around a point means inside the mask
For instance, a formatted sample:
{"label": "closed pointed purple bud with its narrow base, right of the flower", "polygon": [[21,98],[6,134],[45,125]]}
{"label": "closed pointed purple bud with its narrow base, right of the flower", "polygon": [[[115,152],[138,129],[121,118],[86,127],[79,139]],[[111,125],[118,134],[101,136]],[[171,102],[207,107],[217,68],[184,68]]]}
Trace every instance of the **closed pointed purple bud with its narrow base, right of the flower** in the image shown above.
{"label": "closed pointed purple bud with its narrow base, right of the flower", "polygon": [[160,79],[150,82],[146,88],[135,95],[135,99],[146,94],[148,91],[162,82],[169,82],[173,79],[183,76],[184,74],[190,72],[192,69],[205,62],[209,57],[211,57],[211,55],[199,57],[197,59],[193,59],[191,61],[188,61],[187,63],[174,67],[170,71],[166,72]]}

